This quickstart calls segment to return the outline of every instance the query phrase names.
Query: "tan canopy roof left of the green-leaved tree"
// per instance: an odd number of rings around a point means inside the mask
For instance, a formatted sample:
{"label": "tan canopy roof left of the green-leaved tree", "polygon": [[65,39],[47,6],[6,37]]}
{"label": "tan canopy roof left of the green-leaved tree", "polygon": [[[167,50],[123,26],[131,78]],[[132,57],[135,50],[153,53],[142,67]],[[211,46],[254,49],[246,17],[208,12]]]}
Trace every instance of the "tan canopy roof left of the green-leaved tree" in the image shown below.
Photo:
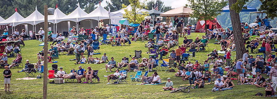
{"label": "tan canopy roof left of the green-leaved tree", "polygon": [[190,14],[192,14],[192,9],[189,7],[181,6],[175,9],[171,9],[169,11],[166,11],[164,13],[161,13],[161,17],[174,17],[174,16],[184,16],[189,17]]}

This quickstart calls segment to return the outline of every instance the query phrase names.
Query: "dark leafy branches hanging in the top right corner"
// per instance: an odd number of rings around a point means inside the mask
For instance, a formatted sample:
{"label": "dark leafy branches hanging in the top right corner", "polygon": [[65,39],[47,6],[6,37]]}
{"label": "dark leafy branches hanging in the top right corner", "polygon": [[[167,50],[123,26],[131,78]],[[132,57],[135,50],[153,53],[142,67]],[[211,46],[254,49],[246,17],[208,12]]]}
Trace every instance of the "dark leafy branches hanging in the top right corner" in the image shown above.
{"label": "dark leafy branches hanging in the top right corner", "polygon": [[277,17],[277,1],[276,0],[260,0],[262,5],[259,8],[259,11],[263,11],[267,14],[267,17],[270,19],[274,19]]}

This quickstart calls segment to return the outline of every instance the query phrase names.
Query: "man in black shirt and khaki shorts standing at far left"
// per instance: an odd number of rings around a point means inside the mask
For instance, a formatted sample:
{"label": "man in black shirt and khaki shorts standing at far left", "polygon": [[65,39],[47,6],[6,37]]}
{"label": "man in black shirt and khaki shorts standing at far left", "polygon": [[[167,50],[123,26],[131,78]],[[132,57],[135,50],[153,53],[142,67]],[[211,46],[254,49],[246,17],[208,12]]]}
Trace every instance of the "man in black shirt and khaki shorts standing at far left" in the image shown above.
{"label": "man in black shirt and khaki shorts standing at far left", "polygon": [[4,76],[5,91],[7,91],[7,84],[8,84],[8,91],[10,91],[10,81],[11,81],[12,72],[8,69],[8,66],[5,66],[4,68],[5,70],[3,72],[3,76]]}

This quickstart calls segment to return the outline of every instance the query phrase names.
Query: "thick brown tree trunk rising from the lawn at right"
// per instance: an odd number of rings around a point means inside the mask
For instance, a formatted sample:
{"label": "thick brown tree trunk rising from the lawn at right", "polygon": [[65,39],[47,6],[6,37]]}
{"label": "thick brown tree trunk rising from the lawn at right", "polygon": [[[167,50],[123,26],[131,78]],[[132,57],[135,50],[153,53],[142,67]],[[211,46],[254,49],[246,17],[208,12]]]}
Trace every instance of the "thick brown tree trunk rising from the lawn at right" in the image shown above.
{"label": "thick brown tree trunk rising from the lawn at right", "polygon": [[236,59],[241,59],[242,55],[245,53],[245,45],[242,37],[241,25],[239,13],[235,10],[231,10],[232,4],[236,3],[237,0],[228,0],[230,8],[230,16],[234,33],[234,41],[236,43]]}

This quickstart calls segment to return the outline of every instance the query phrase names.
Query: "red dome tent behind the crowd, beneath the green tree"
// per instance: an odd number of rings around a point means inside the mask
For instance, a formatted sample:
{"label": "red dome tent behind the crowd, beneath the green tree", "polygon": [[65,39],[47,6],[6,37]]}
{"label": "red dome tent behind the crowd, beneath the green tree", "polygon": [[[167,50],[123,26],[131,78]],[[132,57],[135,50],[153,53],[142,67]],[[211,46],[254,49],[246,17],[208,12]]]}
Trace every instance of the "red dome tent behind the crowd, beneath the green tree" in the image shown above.
{"label": "red dome tent behind the crowd, beneath the green tree", "polygon": [[[217,18],[214,18],[214,20],[207,20],[207,29],[213,29],[214,25],[217,26],[217,28],[221,28],[221,25],[218,23]],[[196,24],[195,32],[204,33],[205,32],[205,21],[199,20]]]}

